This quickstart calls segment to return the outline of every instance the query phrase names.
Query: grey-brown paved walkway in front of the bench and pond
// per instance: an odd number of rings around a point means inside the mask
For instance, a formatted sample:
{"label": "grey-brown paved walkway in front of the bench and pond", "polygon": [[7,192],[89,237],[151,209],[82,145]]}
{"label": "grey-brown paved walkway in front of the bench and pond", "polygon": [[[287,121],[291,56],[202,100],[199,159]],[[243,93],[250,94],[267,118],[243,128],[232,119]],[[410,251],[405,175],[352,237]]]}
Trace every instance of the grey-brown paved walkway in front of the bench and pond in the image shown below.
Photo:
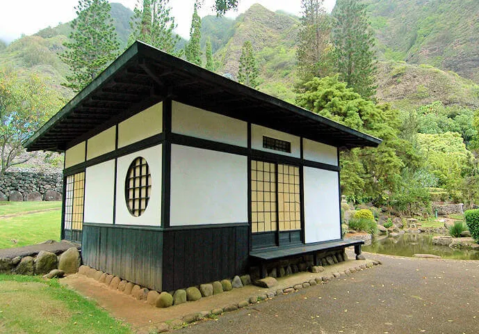
{"label": "grey-brown paved walkway in front of the bench and pond", "polygon": [[175,333],[478,333],[479,261],[365,254],[382,265]]}

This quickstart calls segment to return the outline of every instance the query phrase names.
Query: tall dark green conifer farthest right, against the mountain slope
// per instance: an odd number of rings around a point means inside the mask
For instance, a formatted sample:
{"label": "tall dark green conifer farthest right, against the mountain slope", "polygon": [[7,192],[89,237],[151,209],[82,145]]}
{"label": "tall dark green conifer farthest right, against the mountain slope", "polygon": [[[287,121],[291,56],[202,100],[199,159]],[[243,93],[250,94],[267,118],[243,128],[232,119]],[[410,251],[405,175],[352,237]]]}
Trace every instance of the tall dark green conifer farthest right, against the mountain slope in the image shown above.
{"label": "tall dark green conifer farthest right, against the mountain slope", "polygon": [[371,98],[375,95],[377,67],[366,5],[357,0],[338,0],[333,17],[332,40],[339,79],[362,97]]}

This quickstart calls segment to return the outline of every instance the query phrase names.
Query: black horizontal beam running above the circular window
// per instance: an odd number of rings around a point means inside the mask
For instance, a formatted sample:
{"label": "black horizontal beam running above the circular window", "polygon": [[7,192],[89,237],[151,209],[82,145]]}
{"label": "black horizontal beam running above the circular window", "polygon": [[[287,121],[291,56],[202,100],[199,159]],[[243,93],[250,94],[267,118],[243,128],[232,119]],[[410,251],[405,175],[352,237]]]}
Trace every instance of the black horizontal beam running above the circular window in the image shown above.
{"label": "black horizontal beam running above the circular window", "polygon": [[92,158],[88,161],[82,162],[81,164],[69,167],[63,170],[65,175],[72,175],[77,173],[77,170],[85,169],[90,166],[95,166],[97,164],[102,164],[102,162],[113,160],[115,158],[123,157],[124,155],[137,152],[139,150],[145,150],[145,148],[151,148],[153,146],[159,145],[164,141],[164,134],[155,134],[149,138],[145,138],[141,141],[136,143],[124,146],[122,148],[118,148],[115,151],[108,152],[105,154],[100,155],[99,157]]}

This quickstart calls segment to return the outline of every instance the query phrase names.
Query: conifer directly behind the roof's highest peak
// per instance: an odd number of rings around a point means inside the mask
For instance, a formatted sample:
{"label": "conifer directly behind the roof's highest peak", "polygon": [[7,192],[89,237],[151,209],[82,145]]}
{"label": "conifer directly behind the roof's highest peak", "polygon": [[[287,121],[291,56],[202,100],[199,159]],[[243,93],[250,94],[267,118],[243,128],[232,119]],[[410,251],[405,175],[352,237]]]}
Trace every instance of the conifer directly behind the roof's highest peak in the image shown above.
{"label": "conifer directly behind the roof's highest peak", "polygon": [[[143,0],[143,6],[137,3],[130,20],[131,35],[128,45],[141,40],[161,49],[168,54],[181,56],[175,52],[179,35],[174,35],[174,17],[170,15],[170,0]],[[139,2],[139,1],[138,1]]]}

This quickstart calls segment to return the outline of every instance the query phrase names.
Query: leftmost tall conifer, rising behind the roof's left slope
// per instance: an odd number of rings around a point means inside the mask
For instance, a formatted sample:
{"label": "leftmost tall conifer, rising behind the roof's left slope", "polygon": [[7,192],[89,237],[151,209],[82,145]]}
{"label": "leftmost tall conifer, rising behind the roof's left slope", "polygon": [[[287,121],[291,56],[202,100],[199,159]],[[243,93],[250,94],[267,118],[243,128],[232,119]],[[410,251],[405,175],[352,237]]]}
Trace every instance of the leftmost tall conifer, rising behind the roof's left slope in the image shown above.
{"label": "leftmost tall conifer, rising behind the roof's left slope", "polygon": [[78,17],[60,58],[72,71],[63,85],[78,92],[118,56],[120,44],[107,0],[79,0],[75,9]]}

